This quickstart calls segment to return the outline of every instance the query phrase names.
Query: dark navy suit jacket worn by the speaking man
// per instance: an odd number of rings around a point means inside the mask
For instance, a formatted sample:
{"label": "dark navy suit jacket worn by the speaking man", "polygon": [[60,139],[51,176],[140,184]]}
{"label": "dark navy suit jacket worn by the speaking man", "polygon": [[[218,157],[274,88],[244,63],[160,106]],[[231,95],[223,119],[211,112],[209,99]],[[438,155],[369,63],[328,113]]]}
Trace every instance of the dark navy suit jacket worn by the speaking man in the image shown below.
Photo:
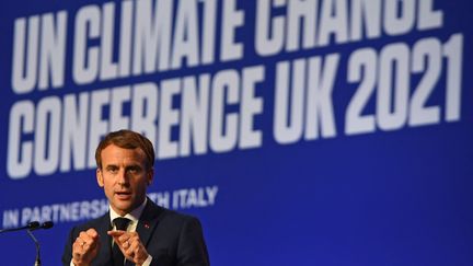
{"label": "dark navy suit jacket worn by the speaking man", "polygon": [[[100,234],[101,248],[92,261],[94,266],[112,266],[112,229],[109,213],[74,227],[66,243],[62,264],[70,265],[72,243],[81,231],[94,228]],[[153,266],[209,266],[209,256],[204,241],[200,222],[197,218],[177,213],[162,208],[148,199],[138,221],[137,233],[148,253],[152,256]],[[134,265],[127,262],[126,265]]]}

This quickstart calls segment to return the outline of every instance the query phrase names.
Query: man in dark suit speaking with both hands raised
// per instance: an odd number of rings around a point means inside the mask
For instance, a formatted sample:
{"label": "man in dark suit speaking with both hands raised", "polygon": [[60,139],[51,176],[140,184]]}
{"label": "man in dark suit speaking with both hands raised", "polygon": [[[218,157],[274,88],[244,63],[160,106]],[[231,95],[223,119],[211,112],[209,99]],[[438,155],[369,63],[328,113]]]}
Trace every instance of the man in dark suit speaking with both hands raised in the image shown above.
{"label": "man in dark suit speaking with both hands raised", "polygon": [[209,265],[199,221],[146,197],[154,175],[151,141],[130,130],[111,132],[95,160],[109,212],[71,230],[64,265]]}

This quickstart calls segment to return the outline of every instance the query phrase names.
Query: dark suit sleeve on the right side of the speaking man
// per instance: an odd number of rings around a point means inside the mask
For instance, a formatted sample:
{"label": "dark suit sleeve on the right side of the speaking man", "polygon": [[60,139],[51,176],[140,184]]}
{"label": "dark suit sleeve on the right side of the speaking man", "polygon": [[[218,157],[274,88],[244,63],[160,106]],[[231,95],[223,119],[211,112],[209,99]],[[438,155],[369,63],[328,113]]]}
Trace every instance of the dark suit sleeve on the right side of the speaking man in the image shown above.
{"label": "dark suit sleeve on the right side of the speaking man", "polygon": [[177,266],[209,266],[209,256],[199,220],[189,218],[183,224],[177,243]]}

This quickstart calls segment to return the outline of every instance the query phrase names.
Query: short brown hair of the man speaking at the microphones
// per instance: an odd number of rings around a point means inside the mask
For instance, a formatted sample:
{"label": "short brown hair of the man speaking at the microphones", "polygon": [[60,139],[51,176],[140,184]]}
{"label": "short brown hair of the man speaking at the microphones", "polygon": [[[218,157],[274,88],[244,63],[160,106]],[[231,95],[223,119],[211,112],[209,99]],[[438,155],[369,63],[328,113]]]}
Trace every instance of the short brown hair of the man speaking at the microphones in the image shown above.
{"label": "short brown hair of the man speaking at the microphones", "polygon": [[99,169],[102,169],[102,151],[109,144],[115,144],[123,149],[136,149],[139,148],[145,152],[146,155],[146,167],[150,170],[154,165],[154,148],[151,141],[142,136],[141,134],[122,129],[118,131],[109,132],[105,138],[99,143],[95,150],[95,162]]}

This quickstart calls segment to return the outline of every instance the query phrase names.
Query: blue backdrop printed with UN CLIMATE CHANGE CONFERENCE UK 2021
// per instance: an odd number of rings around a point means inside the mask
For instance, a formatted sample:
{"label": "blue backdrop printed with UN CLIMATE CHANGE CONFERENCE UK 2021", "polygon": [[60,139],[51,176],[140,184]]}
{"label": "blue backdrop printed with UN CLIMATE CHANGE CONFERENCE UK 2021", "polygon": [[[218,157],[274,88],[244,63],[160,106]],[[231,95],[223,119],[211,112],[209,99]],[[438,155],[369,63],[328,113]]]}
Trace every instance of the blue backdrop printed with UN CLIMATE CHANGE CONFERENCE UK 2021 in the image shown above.
{"label": "blue backdrop printed with UN CLIMATE CHANGE CONFERENCE UK 2021", "polygon": [[[466,0],[1,3],[0,219],[59,265],[130,128],[212,265],[473,265]],[[2,265],[34,263],[25,232]]]}

